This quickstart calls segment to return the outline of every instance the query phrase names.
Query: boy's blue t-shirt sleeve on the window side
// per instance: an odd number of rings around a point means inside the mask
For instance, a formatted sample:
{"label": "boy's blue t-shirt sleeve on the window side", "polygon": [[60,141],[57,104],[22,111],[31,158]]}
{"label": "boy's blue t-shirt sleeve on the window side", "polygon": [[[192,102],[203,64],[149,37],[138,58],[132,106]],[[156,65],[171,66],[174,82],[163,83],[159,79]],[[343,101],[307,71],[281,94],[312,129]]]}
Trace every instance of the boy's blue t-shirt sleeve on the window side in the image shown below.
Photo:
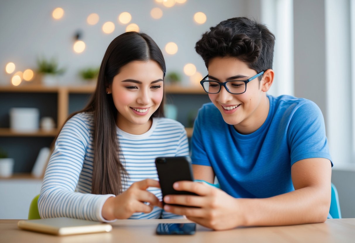
{"label": "boy's blue t-shirt sleeve on the window side", "polygon": [[324,118],[320,108],[314,102],[304,100],[295,107],[287,136],[291,165],[308,158],[326,158],[332,161]]}

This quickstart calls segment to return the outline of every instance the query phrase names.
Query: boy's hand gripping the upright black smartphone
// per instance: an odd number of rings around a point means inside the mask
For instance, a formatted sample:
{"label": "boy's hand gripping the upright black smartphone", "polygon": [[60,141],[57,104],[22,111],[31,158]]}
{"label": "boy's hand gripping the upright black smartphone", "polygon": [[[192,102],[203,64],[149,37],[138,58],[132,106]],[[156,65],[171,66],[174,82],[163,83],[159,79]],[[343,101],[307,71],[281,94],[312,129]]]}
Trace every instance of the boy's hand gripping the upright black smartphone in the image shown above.
{"label": "boy's hand gripping the upright black smartphone", "polygon": [[229,196],[224,191],[200,182],[191,181],[175,182],[174,189],[194,192],[200,196],[165,196],[163,198],[165,203],[191,206],[164,205],[165,211],[186,215],[187,219],[214,230],[227,230],[244,224],[243,210],[240,208],[239,199]]}

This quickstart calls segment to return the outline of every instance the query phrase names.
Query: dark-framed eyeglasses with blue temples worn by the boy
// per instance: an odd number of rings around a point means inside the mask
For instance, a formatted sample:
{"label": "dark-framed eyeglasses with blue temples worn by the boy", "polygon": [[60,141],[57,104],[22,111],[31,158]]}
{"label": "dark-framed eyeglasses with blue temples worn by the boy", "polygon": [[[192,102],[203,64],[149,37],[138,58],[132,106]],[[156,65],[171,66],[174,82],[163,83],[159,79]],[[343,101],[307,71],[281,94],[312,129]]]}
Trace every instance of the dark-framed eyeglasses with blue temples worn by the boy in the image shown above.
{"label": "dark-framed eyeglasses with blue temples worn by the boy", "polygon": [[208,94],[217,94],[221,90],[221,86],[224,86],[229,93],[234,95],[240,95],[246,91],[247,83],[259,77],[263,73],[264,71],[256,74],[255,76],[251,77],[248,80],[231,80],[231,81],[226,81],[224,83],[206,80],[208,77],[207,75],[200,81],[200,84],[202,85],[204,91],[206,91]]}

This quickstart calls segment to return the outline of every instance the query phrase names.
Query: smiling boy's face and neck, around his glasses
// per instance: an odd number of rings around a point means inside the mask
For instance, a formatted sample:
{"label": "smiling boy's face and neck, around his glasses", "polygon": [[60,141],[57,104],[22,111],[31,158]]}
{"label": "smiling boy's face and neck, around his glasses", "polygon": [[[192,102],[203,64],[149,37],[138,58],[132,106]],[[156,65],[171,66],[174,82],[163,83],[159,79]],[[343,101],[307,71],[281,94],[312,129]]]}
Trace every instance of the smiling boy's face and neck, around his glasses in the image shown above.
{"label": "smiling boy's face and neck, around his glasses", "polygon": [[[257,72],[246,63],[234,57],[215,57],[209,61],[209,80],[221,83],[229,80],[247,80]],[[237,76],[237,77],[236,77]],[[235,77],[231,79],[232,77]],[[253,79],[246,85],[243,94],[230,94],[224,87],[219,93],[208,94],[213,104],[219,109],[226,123],[234,125],[242,134],[256,131],[266,120],[269,112],[268,98],[262,91],[263,79]]]}

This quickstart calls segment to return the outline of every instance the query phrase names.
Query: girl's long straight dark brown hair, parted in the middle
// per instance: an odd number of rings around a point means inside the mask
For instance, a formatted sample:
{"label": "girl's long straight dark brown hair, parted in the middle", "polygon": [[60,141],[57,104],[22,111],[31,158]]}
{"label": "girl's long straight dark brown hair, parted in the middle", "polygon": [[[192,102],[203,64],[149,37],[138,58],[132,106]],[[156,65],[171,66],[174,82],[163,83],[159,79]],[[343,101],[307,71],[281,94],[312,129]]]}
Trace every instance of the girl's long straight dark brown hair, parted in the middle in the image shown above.
{"label": "girl's long straight dark brown hair, parted in the middle", "polygon": [[[111,94],[106,88],[112,84],[113,78],[120,68],[132,61],[156,61],[166,72],[162,51],[151,37],[144,33],[126,32],[117,36],[108,46],[102,60],[96,89],[87,106],[75,112],[92,112],[94,115],[94,161],[92,171],[93,194],[120,194],[122,181],[127,172],[119,158],[119,141],[116,135],[117,109]],[[164,117],[164,98],[152,117]]]}

